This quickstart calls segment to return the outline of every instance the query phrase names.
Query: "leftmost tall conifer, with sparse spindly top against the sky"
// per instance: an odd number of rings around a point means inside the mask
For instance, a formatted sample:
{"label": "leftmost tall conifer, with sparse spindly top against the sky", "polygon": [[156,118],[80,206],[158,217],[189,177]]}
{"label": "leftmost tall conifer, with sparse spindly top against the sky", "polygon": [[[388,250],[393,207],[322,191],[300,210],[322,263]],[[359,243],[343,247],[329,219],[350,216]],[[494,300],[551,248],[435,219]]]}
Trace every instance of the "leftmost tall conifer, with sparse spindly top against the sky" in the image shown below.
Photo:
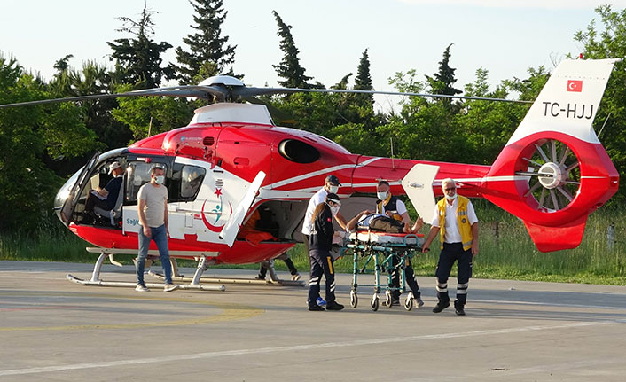
{"label": "leftmost tall conifer, with sparse spindly top against the sky", "polygon": [[119,17],[123,27],[119,32],[127,32],[136,38],[121,38],[115,43],[107,44],[113,50],[111,60],[116,60],[116,67],[121,71],[125,83],[143,82],[145,88],[154,88],[160,85],[163,77],[172,79],[174,69],[161,67],[163,61],[161,53],[172,47],[170,43],[155,43],[151,38],[154,34],[153,12],[144,4],[139,20]]}

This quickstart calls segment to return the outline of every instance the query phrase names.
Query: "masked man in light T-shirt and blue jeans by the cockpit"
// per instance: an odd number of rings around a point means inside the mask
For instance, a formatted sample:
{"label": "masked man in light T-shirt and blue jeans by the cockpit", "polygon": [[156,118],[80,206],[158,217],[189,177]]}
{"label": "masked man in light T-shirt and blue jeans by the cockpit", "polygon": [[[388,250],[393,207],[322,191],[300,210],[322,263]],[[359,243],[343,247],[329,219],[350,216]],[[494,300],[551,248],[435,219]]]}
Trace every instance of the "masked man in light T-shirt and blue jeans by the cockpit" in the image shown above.
{"label": "masked man in light T-shirt and blue jeans by the cockpit", "polygon": [[141,229],[138,233],[139,254],[137,256],[137,292],[148,292],[144,283],[145,257],[150,242],[154,240],[159,248],[160,264],[165,275],[163,291],[172,292],[180,285],[172,284],[172,265],[169,263],[168,249],[168,188],[163,185],[165,175],[163,168],[154,167],[150,171],[150,183],[139,189],[137,211]]}

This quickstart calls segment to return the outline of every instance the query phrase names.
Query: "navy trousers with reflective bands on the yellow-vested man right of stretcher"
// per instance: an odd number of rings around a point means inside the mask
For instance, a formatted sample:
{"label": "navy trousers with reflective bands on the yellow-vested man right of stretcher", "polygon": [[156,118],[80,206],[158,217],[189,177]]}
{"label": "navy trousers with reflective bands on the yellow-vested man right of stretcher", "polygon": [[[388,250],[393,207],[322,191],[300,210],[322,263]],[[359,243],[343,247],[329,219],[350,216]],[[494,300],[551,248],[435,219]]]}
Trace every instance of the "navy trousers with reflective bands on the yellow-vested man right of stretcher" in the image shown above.
{"label": "navy trousers with reflective bands on the yellow-vested man right of stretcher", "polygon": [[472,277],[472,249],[463,250],[461,243],[443,243],[442,253],[434,275],[437,277],[437,298],[440,303],[450,302],[448,295],[448,277],[454,261],[457,261],[457,302],[461,307],[466,305],[467,286]]}

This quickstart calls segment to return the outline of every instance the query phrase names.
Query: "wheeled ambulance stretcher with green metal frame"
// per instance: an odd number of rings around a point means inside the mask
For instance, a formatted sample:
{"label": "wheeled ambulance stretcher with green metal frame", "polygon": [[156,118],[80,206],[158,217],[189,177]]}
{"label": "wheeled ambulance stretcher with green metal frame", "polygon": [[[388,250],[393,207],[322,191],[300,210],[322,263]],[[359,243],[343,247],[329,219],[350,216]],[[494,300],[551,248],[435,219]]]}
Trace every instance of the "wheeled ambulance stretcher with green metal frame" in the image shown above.
{"label": "wheeled ambulance stretcher with green metal frame", "polygon": [[[356,308],[358,296],[356,290],[359,286],[372,286],[374,292],[370,300],[370,307],[373,311],[379,309],[379,293],[382,290],[380,277],[387,274],[387,285],[385,286],[385,303],[391,307],[391,297],[393,291],[405,292],[406,279],[404,269],[408,266],[409,260],[421,252],[424,242],[422,234],[387,233],[374,232],[370,230],[359,230],[351,233],[344,245],[344,253],[351,253],[353,256],[352,285],[350,288],[350,306]],[[361,261],[361,266],[359,266]],[[399,286],[391,286],[392,274],[399,272]],[[359,274],[373,274],[374,284],[358,284]],[[404,308],[413,308],[413,293],[409,292],[404,300]]]}

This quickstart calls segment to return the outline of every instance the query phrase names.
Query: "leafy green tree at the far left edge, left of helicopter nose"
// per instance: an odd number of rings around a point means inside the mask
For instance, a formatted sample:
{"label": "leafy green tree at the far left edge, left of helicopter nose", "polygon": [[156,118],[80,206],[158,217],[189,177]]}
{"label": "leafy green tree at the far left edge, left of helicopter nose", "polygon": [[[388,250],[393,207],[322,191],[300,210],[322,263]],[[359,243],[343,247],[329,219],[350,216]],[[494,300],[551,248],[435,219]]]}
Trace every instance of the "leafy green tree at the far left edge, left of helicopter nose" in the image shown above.
{"label": "leafy green tree at the far left edge, left of helicopter nose", "polygon": [[[0,56],[0,104],[51,98],[40,78],[27,74],[14,58]],[[0,231],[30,232],[50,216],[62,180],[45,165],[59,156],[93,150],[96,136],[72,103],[0,110]]]}

